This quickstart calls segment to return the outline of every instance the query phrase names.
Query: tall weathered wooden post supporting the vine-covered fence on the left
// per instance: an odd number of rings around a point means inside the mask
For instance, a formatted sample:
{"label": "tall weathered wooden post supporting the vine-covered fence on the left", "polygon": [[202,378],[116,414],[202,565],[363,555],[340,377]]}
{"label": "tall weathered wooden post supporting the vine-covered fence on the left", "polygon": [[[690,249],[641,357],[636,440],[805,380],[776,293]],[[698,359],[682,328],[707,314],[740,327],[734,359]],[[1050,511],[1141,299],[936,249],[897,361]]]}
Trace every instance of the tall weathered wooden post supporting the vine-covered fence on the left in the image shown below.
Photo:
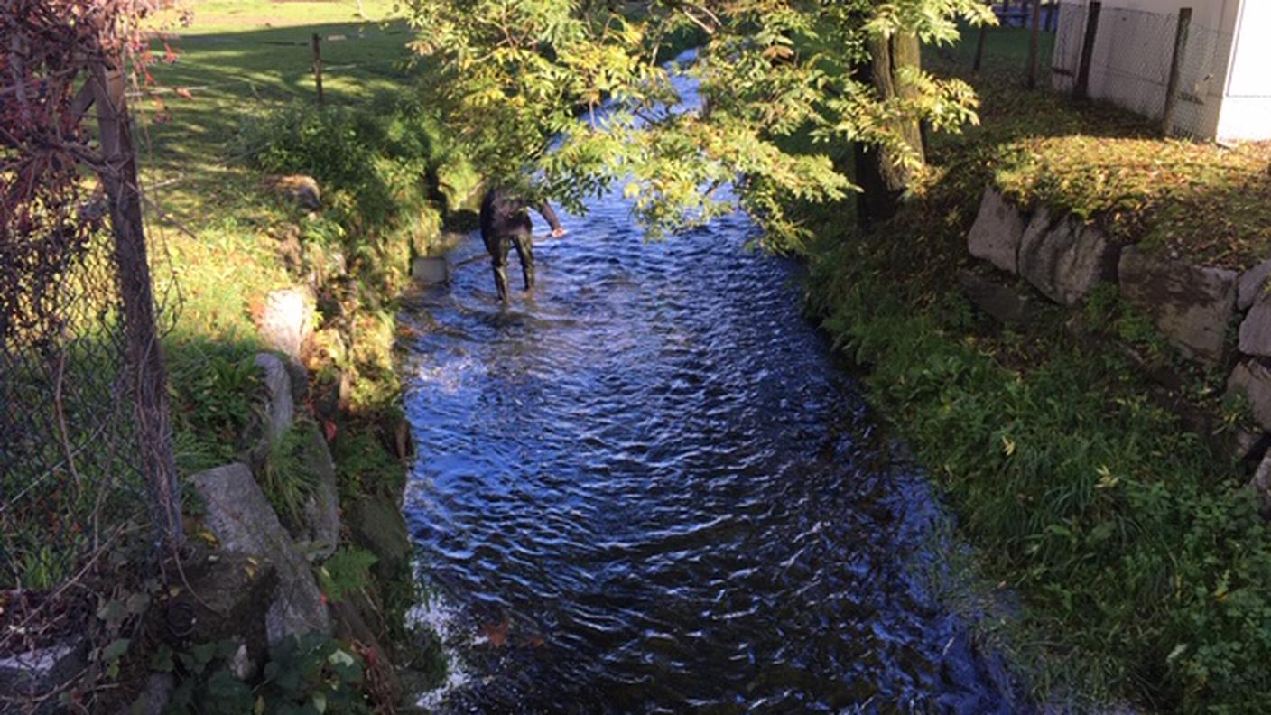
{"label": "tall weathered wooden post supporting the vine-covered fence on the left", "polygon": [[97,106],[104,163],[98,173],[111,206],[111,230],[114,234],[114,260],[127,341],[127,369],[132,371],[128,384],[135,393],[132,413],[139,447],[135,457],[146,478],[150,517],[158,543],[170,556],[183,539],[180,490],[177,485],[168,415],[168,370],[155,324],[137,159],[132,148],[127,83],[119,69],[122,65],[121,59],[116,59],[114,66],[97,62],[88,81],[93,85],[93,103]]}

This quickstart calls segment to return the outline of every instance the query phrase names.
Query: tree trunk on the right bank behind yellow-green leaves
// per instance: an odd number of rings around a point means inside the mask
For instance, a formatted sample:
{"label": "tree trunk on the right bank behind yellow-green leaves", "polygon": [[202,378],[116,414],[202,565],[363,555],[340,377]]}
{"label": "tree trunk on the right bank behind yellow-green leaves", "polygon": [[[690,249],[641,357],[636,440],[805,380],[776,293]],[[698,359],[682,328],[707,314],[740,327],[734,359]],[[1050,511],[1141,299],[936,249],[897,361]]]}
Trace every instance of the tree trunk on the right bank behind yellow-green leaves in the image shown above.
{"label": "tree trunk on the right bank behind yellow-green leaves", "polygon": [[[883,102],[911,95],[915,90],[900,80],[901,67],[920,67],[918,37],[895,34],[869,41],[868,65],[858,67],[858,76],[869,81]],[[899,120],[892,127],[900,132],[916,154],[925,162],[923,130],[916,118]],[[857,220],[862,226],[885,221],[896,215],[900,197],[914,181],[913,167],[899,162],[899,156],[882,146],[855,145],[857,183],[864,190],[857,197]]]}

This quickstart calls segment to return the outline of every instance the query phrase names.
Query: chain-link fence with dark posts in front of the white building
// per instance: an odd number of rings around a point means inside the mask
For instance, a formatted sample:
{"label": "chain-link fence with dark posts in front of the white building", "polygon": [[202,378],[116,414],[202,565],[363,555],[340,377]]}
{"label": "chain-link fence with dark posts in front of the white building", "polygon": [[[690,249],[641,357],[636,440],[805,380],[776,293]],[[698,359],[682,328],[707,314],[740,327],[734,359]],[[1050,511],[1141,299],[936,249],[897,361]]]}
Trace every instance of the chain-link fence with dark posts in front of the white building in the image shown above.
{"label": "chain-link fence with dark posts in front of the white building", "polygon": [[[1094,14],[1087,0],[1060,5],[1052,59],[1055,88],[1077,88],[1087,32],[1093,23],[1088,95],[1160,120],[1166,112],[1179,15],[1108,4],[1097,10],[1097,19]],[[1214,136],[1230,48],[1232,33],[1195,19],[1187,24],[1186,39],[1178,47],[1181,61],[1172,132]]]}

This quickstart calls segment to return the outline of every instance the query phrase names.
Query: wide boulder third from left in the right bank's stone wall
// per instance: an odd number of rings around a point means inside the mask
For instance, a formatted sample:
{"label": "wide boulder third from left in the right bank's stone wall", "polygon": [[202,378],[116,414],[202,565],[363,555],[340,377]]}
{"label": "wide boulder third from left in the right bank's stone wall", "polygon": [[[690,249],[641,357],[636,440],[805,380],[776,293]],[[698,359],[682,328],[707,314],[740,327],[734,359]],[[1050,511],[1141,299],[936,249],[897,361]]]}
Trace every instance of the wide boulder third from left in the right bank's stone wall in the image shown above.
{"label": "wide boulder third from left in the right bank's stone wall", "polygon": [[1235,272],[1159,258],[1136,247],[1121,252],[1121,295],[1152,317],[1187,358],[1219,365],[1235,313]]}

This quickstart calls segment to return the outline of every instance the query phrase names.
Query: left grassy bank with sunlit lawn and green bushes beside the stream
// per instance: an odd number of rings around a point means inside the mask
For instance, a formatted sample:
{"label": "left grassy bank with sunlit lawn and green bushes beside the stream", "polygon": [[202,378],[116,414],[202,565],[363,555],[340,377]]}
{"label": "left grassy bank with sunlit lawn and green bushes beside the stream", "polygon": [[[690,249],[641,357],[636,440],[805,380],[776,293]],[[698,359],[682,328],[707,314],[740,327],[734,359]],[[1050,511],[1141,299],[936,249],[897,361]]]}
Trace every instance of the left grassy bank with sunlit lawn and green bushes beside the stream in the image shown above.
{"label": "left grassy bank with sunlit lawn and green bushes beside the stream", "polygon": [[[164,347],[178,467],[186,477],[243,458],[243,435],[262,410],[252,359],[263,349],[257,324],[266,296],[310,290],[316,304],[304,355],[308,421],[296,439],[280,441],[257,481],[286,520],[314,489],[299,435],[325,436],[346,533],[339,550],[315,564],[323,595],[356,603],[394,664],[418,672],[407,688],[435,684],[446,664],[436,644],[407,632],[404,611],[419,597],[407,537],[391,528],[411,453],[394,369],[395,299],[408,284],[411,257],[436,248],[442,216],[475,179],[413,98],[417,70],[404,23],[389,19],[393,3],[366,0],[366,18],[355,17],[358,4],[351,1],[187,6],[194,11],[188,25],[170,22],[175,15],[156,23],[164,32],[153,51],[170,61],[153,67],[155,85],[137,112],[156,282],[170,296]],[[314,34],[323,47],[323,107],[310,74]],[[316,179],[320,209],[278,190],[272,177],[289,174]],[[187,506],[197,541],[197,500]],[[400,550],[393,569],[376,559],[385,543]],[[214,645],[177,654],[184,681],[174,702],[244,697]],[[310,660],[333,648],[330,639],[301,642],[301,653],[280,651],[275,669],[311,669]],[[362,644],[342,648],[364,653]],[[364,695],[391,707],[385,692],[394,688],[374,677],[374,656],[362,665],[365,677],[346,682],[342,674],[332,692],[352,704],[348,711],[362,711]],[[305,678],[257,707],[310,695],[316,702],[324,686],[309,693]],[[268,693],[275,684],[267,677],[253,687]]]}

